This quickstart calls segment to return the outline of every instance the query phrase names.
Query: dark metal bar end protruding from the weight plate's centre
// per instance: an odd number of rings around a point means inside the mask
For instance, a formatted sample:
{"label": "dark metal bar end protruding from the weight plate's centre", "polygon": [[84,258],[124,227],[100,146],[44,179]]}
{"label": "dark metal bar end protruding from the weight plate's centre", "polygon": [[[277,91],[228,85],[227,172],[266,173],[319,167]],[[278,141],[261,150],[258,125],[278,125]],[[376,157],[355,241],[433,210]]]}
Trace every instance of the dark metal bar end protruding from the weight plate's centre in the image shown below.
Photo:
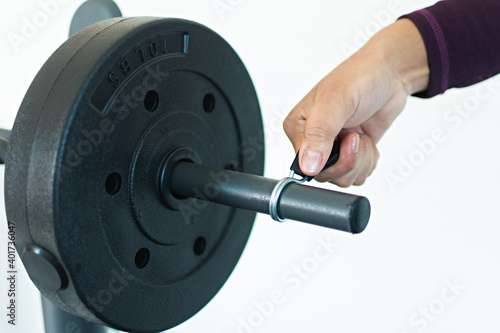
{"label": "dark metal bar end protruding from the weight plate's centre", "polygon": [[[269,214],[269,201],[278,180],[241,172],[179,162],[170,178],[177,197],[193,197],[218,204]],[[289,184],[279,203],[280,217],[322,227],[362,232],[370,217],[365,197],[325,189]]]}

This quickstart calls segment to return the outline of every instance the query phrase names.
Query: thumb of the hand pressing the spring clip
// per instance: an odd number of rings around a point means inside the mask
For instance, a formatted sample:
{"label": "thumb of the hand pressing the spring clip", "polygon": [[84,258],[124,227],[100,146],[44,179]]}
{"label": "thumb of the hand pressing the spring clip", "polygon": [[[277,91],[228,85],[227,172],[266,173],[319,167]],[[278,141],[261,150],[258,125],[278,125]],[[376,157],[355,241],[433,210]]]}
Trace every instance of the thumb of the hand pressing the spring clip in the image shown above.
{"label": "thumb of the hand pressing the spring clip", "polygon": [[342,130],[345,111],[332,108],[331,104],[315,103],[304,124],[299,164],[302,172],[316,176],[324,168],[335,137]]}

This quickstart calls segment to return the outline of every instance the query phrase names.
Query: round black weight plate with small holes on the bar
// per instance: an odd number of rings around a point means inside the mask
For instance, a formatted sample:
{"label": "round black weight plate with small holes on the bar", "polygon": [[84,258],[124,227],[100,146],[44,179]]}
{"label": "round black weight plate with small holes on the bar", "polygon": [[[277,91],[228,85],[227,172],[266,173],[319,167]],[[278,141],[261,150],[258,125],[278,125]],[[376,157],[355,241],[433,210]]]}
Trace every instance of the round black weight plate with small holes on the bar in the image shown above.
{"label": "round black weight plate with small holes on the bar", "polygon": [[231,274],[255,214],[168,208],[160,168],[184,147],[202,164],[262,174],[264,152],[245,145],[260,135],[248,73],[206,27],[116,18],[75,34],[33,81],[9,145],[18,251],[67,281],[28,267],[33,282],[64,310],[125,331],[189,319]]}

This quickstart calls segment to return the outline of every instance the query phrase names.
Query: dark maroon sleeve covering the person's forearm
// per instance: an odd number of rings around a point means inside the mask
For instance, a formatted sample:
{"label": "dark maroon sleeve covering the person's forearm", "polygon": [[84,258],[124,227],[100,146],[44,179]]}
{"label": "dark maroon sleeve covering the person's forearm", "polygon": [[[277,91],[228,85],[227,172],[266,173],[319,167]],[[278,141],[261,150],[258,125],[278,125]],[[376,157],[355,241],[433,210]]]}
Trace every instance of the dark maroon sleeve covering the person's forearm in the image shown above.
{"label": "dark maroon sleeve covering the person's forearm", "polygon": [[500,0],[444,0],[402,16],[422,34],[430,67],[429,98],[500,73]]}

